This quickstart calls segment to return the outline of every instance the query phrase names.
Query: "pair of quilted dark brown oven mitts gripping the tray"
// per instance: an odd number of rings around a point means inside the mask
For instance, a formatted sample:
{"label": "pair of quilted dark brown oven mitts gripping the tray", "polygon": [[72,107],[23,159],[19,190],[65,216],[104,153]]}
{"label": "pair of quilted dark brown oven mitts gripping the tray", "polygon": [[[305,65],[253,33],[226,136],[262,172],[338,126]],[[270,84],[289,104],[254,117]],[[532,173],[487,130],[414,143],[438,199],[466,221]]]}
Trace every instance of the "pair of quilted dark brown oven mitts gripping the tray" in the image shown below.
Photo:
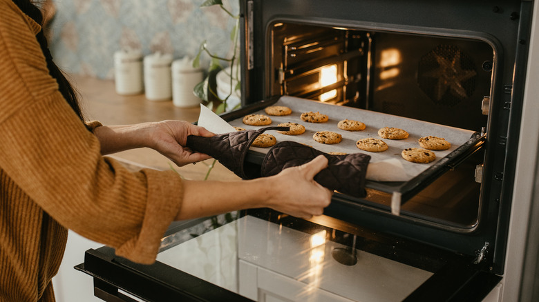
{"label": "pair of quilted dark brown oven mitts gripping the tray", "polygon": [[314,180],[325,188],[337,190],[354,197],[364,197],[365,176],[370,156],[363,153],[332,155],[294,141],[277,143],[267,152],[262,167],[245,161],[249,147],[267,130],[287,131],[288,127],[266,127],[218,134],[214,137],[189,135],[187,147],[208,154],[242,179],[254,179],[278,174],[285,168],[308,163],[323,154],[328,168],[321,170]]}

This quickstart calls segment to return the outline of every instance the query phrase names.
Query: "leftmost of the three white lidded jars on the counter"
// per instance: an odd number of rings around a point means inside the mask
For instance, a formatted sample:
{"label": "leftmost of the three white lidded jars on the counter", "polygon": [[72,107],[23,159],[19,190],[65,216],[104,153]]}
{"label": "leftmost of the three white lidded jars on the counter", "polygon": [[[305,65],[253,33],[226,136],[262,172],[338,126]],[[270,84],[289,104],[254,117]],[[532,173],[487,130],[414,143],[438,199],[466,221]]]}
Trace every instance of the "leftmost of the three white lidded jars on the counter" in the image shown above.
{"label": "leftmost of the three white lidded jars on the counter", "polygon": [[120,50],[114,53],[114,80],[117,94],[141,94],[142,53],[137,50]]}

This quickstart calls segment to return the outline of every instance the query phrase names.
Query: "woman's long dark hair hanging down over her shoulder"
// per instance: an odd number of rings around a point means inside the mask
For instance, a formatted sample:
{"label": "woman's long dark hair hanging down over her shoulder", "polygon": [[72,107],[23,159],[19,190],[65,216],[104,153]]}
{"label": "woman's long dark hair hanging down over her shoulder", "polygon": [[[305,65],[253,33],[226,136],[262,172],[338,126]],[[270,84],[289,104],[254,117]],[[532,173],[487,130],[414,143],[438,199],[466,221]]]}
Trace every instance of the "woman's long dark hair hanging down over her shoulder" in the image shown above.
{"label": "woman's long dark hair hanging down over her shoulder", "polygon": [[[43,26],[43,14],[41,13],[41,10],[35,6],[33,1],[31,0],[12,0],[13,3],[15,3],[25,14],[28,15],[28,17],[34,19],[36,23]],[[55,78],[58,82],[59,91],[64,96],[64,99],[69,103],[71,108],[73,108],[73,111],[77,113],[79,118],[84,121],[84,114],[82,114],[82,110],[79,106],[79,101],[77,97],[77,92],[71,86],[68,79],[66,79],[66,76],[64,75],[64,72],[56,66],[56,64],[53,62],[53,56],[50,55],[50,51],[48,50],[48,43],[47,39],[45,37],[45,34],[43,30],[41,30],[37,35],[36,39],[39,42],[39,46],[41,46],[41,51],[43,52],[46,60],[47,60],[47,68],[48,73],[51,77]]]}

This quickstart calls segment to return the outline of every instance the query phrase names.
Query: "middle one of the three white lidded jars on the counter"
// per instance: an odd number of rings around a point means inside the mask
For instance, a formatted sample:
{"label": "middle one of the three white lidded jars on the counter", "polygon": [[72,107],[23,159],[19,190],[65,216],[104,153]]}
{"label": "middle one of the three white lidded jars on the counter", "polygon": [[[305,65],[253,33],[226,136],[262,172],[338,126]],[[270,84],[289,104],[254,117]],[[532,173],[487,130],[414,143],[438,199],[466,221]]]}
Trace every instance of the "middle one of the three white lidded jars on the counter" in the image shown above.
{"label": "middle one of the three white lidded jars on the counter", "polygon": [[172,54],[155,52],[144,57],[144,92],[149,101],[172,98]]}

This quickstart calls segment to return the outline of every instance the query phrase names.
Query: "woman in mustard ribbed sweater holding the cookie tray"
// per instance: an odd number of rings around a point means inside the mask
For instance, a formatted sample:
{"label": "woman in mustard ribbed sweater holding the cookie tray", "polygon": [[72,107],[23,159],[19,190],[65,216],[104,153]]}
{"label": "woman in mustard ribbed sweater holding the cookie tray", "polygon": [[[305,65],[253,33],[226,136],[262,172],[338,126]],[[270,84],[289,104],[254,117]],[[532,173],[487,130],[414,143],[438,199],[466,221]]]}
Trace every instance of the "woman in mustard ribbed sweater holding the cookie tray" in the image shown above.
{"label": "woman in mustard ribbed sweater holding the cookie tray", "polygon": [[[0,0],[0,301],[54,301],[67,230],[152,263],[173,220],[244,208],[322,214],[331,192],[313,181],[314,159],[252,181],[182,181],[173,171],[129,172],[102,155],[149,147],[185,165],[207,159],[182,148],[209,137],[182,121],[116,127],[84,123],[53,63],[29,0]],[[274,190],[278,188],[278,190]]]}

